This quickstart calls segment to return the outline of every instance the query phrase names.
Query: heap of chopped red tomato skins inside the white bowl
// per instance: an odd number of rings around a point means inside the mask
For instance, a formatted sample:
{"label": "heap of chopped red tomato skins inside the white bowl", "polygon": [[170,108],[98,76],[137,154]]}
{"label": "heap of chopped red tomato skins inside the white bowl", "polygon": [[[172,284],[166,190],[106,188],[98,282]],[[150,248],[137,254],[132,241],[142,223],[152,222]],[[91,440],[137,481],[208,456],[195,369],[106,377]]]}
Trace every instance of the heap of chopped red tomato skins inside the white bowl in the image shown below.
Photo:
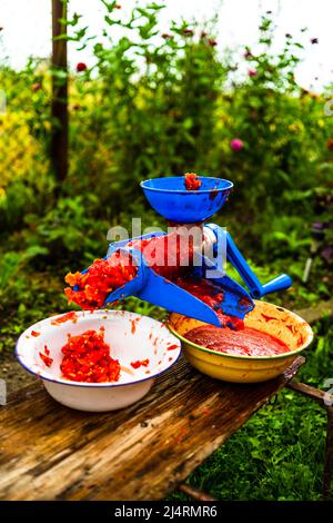
{"label": "heap of chopped red tomato skins inside the white bowl", "polygon": [[120,364],[110,356],[110,346],[104,342],[102,330],[69,337],[61,348],[63,354],[60,369],[62,377],[71,382],[104,383],[118,382]]}

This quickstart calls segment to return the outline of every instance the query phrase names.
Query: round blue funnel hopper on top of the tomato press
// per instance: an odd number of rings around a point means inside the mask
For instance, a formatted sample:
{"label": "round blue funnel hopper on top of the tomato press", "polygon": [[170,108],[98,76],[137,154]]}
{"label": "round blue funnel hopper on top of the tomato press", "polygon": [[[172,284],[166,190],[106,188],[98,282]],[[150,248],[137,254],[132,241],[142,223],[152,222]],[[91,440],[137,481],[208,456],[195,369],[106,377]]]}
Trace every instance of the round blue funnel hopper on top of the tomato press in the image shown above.
{"label": "round blue funnel hopper on top of the tomato press", "polygon": [[218,213],[233,184],[221,178],[198,176],[201,187],[186,190],[183,176],[154,178],[141,181],[144,196],[152,208],[168,221],[198,224]]}

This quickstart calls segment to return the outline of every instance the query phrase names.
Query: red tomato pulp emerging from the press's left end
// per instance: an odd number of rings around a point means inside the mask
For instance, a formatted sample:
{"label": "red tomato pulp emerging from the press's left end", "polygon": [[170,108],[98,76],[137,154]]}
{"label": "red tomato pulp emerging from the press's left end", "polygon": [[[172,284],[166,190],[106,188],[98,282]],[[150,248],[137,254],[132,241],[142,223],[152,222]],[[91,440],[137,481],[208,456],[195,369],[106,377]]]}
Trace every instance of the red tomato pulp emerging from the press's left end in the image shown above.
{"label": "red tomato pulp emerging from the press's left end", "polygon": [[82,309],[100,308],[109,294],[133,279],[137,272],[131,256],[117,251],[107,259],[95,259],[85,274],[69,273],[64,280],[78,290],[67,287],[64,294]]}

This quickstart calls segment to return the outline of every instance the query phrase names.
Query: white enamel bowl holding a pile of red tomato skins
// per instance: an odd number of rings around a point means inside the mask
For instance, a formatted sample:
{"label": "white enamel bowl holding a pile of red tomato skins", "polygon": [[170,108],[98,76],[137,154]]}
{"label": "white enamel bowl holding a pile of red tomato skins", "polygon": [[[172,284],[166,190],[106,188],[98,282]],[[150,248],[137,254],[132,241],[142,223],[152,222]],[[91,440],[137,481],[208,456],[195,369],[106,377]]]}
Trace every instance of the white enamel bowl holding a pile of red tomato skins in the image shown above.
{"label": "white enamel bowl holding a pile of red tomato skins", "polygon": [[[27,371],[42,379],[54,399],[71,408],[105,412],[138,402],[151,388],[155,376],[171,367],[181,352],[180,341],[165,325],[140,314],[124,310],[78,312],[75,320],[54,324],[54,319],[61,316],[43,319],[24,330],[18,339],[16,354]],[[88,329],[99,330],[102,326],[105,329],[104,341],[111,347],[111,357],[119,359],[121,365],[119,381],[83,383],[62,378],[61,347],[67,344],[68,334],[75,336]],[[38,336],[33,336],[32,332]],[[39,356],[44,352],[44,345],[53,359],[50,367]],[[131,366],[131,363],[147,358],[147,367],[135,369]]]}

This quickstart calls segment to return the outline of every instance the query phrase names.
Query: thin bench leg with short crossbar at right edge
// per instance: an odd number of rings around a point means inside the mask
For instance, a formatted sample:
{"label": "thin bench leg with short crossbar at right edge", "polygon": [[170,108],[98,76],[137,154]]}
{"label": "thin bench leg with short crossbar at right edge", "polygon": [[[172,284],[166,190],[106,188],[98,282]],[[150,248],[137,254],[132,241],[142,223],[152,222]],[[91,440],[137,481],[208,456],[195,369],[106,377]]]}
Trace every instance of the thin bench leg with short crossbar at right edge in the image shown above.
{"label": "thin bench leg with short crossbar at right edge", "polygon": [[323,473],[323,501],[331,495],[332,470],[333,470],[333,395],[306,385],[302,382],[289,382],[286,387],[299,392],[304,396],[316,401],[327,413],[326,446]]}

